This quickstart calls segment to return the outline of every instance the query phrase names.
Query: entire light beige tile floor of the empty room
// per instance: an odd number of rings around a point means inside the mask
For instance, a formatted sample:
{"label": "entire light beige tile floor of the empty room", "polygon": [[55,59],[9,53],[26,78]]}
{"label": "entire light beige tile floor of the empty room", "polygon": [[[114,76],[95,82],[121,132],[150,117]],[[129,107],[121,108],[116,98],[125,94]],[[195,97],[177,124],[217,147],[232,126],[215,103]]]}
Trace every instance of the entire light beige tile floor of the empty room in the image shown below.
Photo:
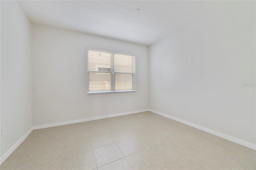
{"label": "entire light beige tile floor of the empty room", "polygon": [[256,152],[151,112],[33,130],[1,170],[255,170]]}

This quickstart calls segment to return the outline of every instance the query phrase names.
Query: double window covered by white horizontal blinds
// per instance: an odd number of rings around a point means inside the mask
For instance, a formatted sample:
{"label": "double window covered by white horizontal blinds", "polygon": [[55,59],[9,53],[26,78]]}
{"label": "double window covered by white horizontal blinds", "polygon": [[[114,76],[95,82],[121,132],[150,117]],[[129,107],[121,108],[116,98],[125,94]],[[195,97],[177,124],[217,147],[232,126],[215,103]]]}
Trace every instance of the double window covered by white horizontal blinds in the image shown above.
{"label": "double window covered by white horizontal blinds", "polygon": [[135,91],[135,56],[88,49],[88,93]]}

